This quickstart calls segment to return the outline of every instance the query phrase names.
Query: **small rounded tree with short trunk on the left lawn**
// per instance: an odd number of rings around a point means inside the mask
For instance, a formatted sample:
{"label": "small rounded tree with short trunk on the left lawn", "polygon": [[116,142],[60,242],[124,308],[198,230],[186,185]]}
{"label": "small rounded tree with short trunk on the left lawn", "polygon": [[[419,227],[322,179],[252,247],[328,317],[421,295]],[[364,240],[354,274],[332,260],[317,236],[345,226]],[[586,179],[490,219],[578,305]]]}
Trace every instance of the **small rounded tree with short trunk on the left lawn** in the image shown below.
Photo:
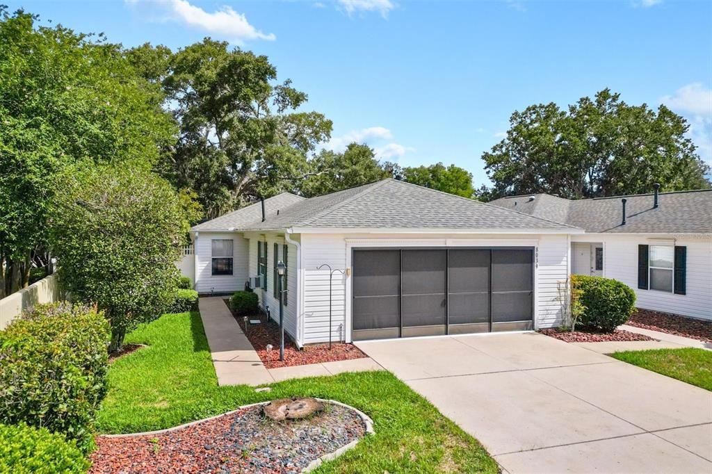
{"label": "small rounded tree with short trunk on the left lawn", "polygon": [[129,167],[65,174],[51,211],[59,281],[76,300],[104,310],[110,352],[174,298],[185,227],[182,204],[164,179]]}

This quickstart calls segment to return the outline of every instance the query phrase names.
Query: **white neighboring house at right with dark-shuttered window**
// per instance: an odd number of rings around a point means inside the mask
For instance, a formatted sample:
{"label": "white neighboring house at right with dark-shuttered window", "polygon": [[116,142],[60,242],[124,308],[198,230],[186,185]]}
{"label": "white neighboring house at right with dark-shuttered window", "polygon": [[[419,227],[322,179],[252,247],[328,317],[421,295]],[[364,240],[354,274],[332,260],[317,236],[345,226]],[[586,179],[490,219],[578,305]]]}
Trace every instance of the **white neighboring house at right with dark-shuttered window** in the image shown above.
{"label": "white neighboring house at right with dark-shuttered window", "polygon": [[638,307],[712,319],[712,189],[491,204],[585,229],[571,236],[572,273],[626,283]]}

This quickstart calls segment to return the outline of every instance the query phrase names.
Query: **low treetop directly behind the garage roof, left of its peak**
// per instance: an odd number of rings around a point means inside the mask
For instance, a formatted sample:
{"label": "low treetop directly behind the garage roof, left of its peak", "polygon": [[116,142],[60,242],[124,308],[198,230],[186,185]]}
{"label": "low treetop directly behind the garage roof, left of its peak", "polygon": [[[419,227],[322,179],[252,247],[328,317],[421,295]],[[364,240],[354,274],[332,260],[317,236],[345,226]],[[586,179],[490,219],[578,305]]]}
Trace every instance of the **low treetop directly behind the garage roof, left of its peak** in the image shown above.
{"label": "low treetop directly behind the garage roof, left of its peak", "polygon": [[300,186],[305,196],[320,196],[391,176],[367,144],[352,143],[344,152],[322,150],[310,160],[310,176]]}

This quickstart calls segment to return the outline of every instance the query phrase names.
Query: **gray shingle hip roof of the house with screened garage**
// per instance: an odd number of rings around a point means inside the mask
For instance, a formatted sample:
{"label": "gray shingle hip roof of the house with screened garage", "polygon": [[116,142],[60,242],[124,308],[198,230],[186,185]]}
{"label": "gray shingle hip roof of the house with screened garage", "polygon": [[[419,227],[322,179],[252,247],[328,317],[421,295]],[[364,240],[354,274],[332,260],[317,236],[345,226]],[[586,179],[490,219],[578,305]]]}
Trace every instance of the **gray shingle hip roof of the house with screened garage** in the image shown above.
{"label": "gray shingle hip roof of the house with screened garage", "polygon": [[[250,223],[238,224],[234,218],[214,223],[230,215],[227,214],[200,226],[216,228],[224,225],[222,222],[229,222],[235,230],[246,231],[286,228],[532,229],[564,233],[580,231],[564,223],[548,221],[395,179],[384,179],[305,199],[281,209],[279,215],[268,212],[265,222],[261,222],[259,212],[257,208],[255,218]],[[200,230],[200,226],[196,226],[194,230]]]}

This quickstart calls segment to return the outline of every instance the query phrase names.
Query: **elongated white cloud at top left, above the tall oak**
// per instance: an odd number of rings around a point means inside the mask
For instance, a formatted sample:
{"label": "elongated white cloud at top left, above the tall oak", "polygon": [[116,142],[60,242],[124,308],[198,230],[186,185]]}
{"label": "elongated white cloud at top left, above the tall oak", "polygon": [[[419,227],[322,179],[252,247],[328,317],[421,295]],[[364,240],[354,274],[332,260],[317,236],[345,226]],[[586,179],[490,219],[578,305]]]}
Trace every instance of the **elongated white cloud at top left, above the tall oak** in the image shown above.
{"label": "elongated white cloud at top left, above the tall oak", "polygon": [[[142,2],[127,0],[127,3],[139,4]],[[162,7],[169,14],[169,17],[164,19],[182,21],[194,28],[225,38],[232,43],[241,44],[249,40],[273,41],[276,39],[274,33],[262,33],[252,26],[244,14],[234,11],[231,6],[226,5],[217,11],[208,13],[199,6],[190,4],[187,0],[164,0],[154,5]]]}

